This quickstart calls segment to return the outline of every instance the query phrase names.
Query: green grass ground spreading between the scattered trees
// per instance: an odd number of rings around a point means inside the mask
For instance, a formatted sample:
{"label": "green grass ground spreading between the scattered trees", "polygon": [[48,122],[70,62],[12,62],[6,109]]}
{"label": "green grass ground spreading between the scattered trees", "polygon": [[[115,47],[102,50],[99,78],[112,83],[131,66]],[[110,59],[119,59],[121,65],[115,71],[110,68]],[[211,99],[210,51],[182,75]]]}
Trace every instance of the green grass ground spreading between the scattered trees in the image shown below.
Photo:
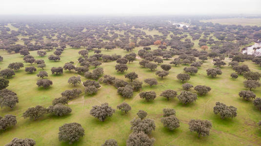
{"label": "green grass ground spreading between the scattered trees", "polygon": [[[156,46],[152,46],[156,49]],[[133,52],[138,53],[141,49],[135,48]],[[40,118],[37,121],[31,121],[24,119],[22,113],[29,107],[35,107],[41,105],[48,107],[52,104],[54,98],[60,97],[60,93],[67,89],[73,89],[72,85],[67,83],[67,80],[71,76],[77,76],[74,71],[69,73],[65,71],[62,75],[52,75],[51,67],[63,66],[64,63],[69,61],[77,62],[77,58],[80,57],[78,51],[81,49],[66,48],[61,55],[61,61],[53,62],[48,60],[48,55],[53,54],[53,51],[47,52],[44,57],[39,57],[36,51],[31,51],[30,54],[36,59],[43,59],[47,65],[45,69],[49,77],[48,79],[53,81],[53,86],[48,89],[38,88],[36,85],[39,79],[36,74],[41,71],[37,68],[37,73],[28,74],[24,71],[24,68],[16,72],[16,75],[9,79],[8,90],[12,90],[18,94],[19,103],[17,106],[10,110],[8,108],[0,109],[0,116],[5,114],[13,114],[17,116],[18,123],[12,128],[8,128],[5,131],[0,131],[0,146],[3,146],[10,142],[13,138],[32,138],[36,141],[37,146],[69,146],[68,143],[59,142],[58,132],[59,127],[65,123],[78,122],[85,130],[85,136],[80,139],[79,142],[73,144],[73,146],[100,146],[107,139],[115,139],[120,146],[125,146],[128,135],[132,132],[130,130],[130,121],[137,117],[136,113],[139,110],[145,110],[148,112],[148,118],[155,120],[156,130],[150,134],[150,137],[156,139],[155,146],[185,146],[185,145],[211,145],[211,146],[258,146],[261,145],[261,130],[258,129],[256,123],[261,120],[261,112],[255,109],[252,102],[243,101],[238,92],[246,90],[243,86],[243,77],[239,76],[238,79],[233,80],[230,74],[234,71],[232,67],[224,66],[221,68],[222,75],[216,78],[210,78],[206,75],[206,69],[212,68],[212,59],[208,59],[203,63],[199,72],[196,75],[192,75],[188,83],[197,85],[206,85],[211,87],[211,91],[205,96],[198,96],[198,100],[191,105],[183,106],[177,98],[167,101],[163,97],[159,96],[160,93],[166,89],[172,89],[178,91],[178,94],[182,91],[182,83],[178,81],[176,75],[183,73],[184,66],[173,66],[169,71],[169,75],[163,79],[155,75],[156,71],[150,71],[149,69],[142,68],[139,65],[141,59],[127,64],[128,71],[136,72],[139,74],[139,80],[145,78],[156,78],[159,82],[158,85],[149,87],[143,83],[142,91],[156,91],[157,98],[152,102],[145,102],[139,96],[139,92],[134,92],[134,95],[130,99],[124,99],[117,93],[117,89],[110,85],[101,84],[101,88],[97,94],[80,95],[80,97],[71,100],[68,106],[72,109],[71,114],[67,116],[57,117],[51,114]],[[93,51],[89,55],[93,55]],[[115,49],[112,51],[105,51],[102,49],[102,54],[118,54],[125,55],[126,51]],[[3,62],[0,62],[0,68],[7,68],[11,62],[23,62],[20,54],[9,55],[6,52],[0,51],[0,55],[3,56]],[[178,57],[178,56],[174,56]],[[164,60],[164,63],[169,63],[171,60]],[[230,60],[226,59],[228,63]],[[76,64],[76,63],[75,63]],[[252,62],[246,61],[251,71],[261,72],[261,68]],[[104,69],[104,74],[110,74],[120,79],[125,79],[125,73],[117,73],[115,70],[116,61],[102,63],[101,67]],[[25,67],[29,64],[25,64]],[[77,65],[79,66],[79,64]],[[91,70],[94,68],[90,68]],[[157,70],[161,70],[158,66]],[[86,78],[81,77],[82,81]],[[83,86],[78,85],[76,88],[84,89]],[[261,97],[261,88],[253,90],[257,97]],[[141,91],[140,91],[141,92]],[[117,110],[112,117],[106,119],[105,122],[100,122],[89,114],[92,106],[100,105],[101,103],[109,103],[114,109],[122,102],[127,102],[131,105],[132,110],[125,114],[120,110]],[[222,120],[219,115],[215,115],[213,107],[215,103],[220,101],[226,105],[232,105],[238,108],[238,116],[234,119]],[[169,131],[161,124],[162,110],[163,108],[174,108],[177,113],[178,119],[180,119],[180,128]],[[212,122],[213,128],[210,131],[210,135],[206,137],[198,138],[196,133],[191,133],[188,129],[188,121],[190,119],[207,119]]]}

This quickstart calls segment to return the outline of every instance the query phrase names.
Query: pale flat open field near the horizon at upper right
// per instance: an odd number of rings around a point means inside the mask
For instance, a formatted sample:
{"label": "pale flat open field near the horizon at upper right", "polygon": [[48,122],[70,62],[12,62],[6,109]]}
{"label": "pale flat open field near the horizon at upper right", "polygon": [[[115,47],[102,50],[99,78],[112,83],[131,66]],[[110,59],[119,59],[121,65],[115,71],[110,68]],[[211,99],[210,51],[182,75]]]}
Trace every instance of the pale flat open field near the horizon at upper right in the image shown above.
{"label": "pale flat open field near the horizon at upper right", "polygon": [[201,22],[220,23],[224,25],[242,25],[242,26],[261,26],[261,18],[220,18],[220,19],[207,19]]}

